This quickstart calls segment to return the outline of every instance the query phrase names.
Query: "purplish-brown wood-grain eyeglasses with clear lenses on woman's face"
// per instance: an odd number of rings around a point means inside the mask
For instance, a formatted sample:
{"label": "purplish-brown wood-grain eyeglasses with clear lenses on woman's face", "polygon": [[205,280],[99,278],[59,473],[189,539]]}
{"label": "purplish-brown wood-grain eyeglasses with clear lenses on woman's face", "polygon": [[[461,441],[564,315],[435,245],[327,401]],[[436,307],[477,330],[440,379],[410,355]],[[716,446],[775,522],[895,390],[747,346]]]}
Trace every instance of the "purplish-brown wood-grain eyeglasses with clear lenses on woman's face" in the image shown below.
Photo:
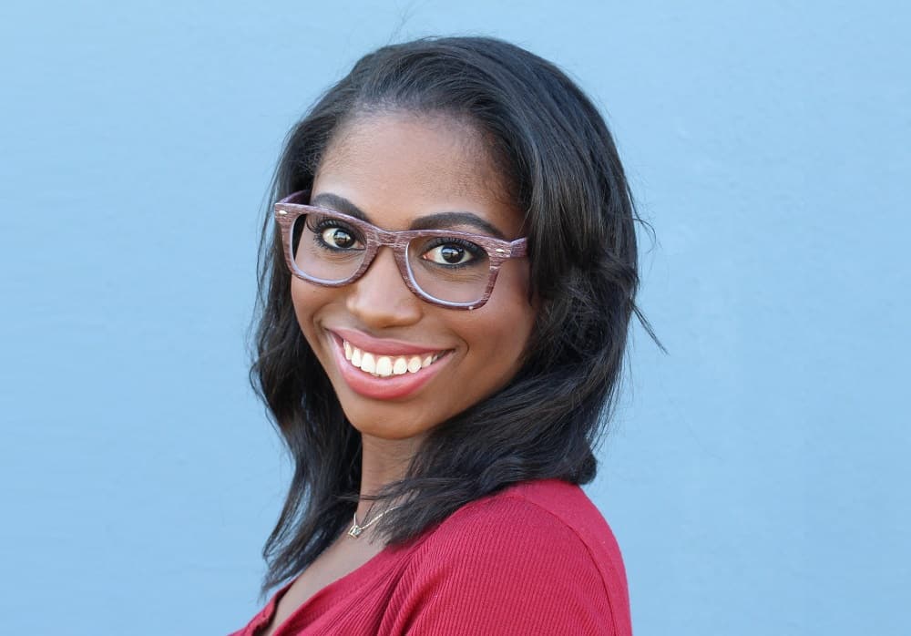
{"label": "purplish-brown wood-grain eyeglasses with clear lenses on woman's face", "polygon": [[487,302],[507,259],[526,255],[526,239],[449,230],[385,231],[333,210],[298,203],[306,191],[275,204],[285,262],[303,281],[325,287],[350,284],[367,271],[380,247],[392,248],[412,292],[428,303],[477,309]]}

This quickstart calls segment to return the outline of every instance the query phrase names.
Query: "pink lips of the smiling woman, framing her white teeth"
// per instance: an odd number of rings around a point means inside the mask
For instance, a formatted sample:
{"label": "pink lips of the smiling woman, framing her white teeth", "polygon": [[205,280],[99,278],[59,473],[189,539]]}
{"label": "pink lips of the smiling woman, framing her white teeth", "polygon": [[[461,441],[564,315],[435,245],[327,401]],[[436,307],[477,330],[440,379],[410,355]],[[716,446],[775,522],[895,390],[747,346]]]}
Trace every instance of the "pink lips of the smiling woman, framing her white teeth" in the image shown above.
{"label": "pink lips of the smiling woman, framing her white teeth", "polygon": [[[377,340],[363,333],[353,332],[348,329],[333,329],[328,334],[335,356],[335,364],[345,383],[351,387],[354,393],[374,400],[395,400],[414,394],[439,373],[445,364],[448,364],[449,354],[451,353],[450,350],[434,349],[395,340]],[[417,355],[440,353],[440,358],[434,364],[421,369],[415,374],[406,373],[388,377],[374,377],[374,375],[365,374],[360,369],[355,368],[353,364],[345,359],[342,345],[343,339],[358,349],[369,351],[372,354]]]}

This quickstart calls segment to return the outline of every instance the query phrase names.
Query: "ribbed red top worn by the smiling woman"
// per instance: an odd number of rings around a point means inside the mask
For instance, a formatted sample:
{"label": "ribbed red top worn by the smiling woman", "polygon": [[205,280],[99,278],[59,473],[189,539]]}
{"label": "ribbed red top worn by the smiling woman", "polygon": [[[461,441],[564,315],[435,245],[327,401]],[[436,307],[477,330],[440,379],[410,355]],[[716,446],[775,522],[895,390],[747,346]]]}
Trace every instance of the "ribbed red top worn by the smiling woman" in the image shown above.
{"label": "ribbed red top worn by the smiling woman", "polygon": [[[231,636],[268,625],[288,587]],[[608,524],[581,488],[548,480],[478,499],[384,549],[314,594],[274,636],[631,633]]]}

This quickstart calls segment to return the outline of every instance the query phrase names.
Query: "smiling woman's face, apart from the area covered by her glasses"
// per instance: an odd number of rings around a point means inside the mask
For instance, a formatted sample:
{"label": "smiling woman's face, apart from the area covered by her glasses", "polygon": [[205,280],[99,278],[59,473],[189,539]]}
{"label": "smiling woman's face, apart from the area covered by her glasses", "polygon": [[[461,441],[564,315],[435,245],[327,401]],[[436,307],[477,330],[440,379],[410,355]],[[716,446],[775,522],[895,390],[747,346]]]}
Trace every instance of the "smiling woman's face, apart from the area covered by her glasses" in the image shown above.
{"label": "smiling woman's face, apart from the area covered by her glasses", "polygon": [[[442,116],[370,115],[333,140],[311,203],[363,214],[384,230],[433,227],[512,241],[522,218],[501,181],[472,128]],[[384,439],[419,438],[506,385],[535,319],[526,259],[505,262],[487,303],[464,311],[415,296],[385,247],[344,287],[292,277],[292,299],[345,415],[363,435]],[[377,374],[389,364],[394,374]],[[403,365],[410,368],[401,373]]]}

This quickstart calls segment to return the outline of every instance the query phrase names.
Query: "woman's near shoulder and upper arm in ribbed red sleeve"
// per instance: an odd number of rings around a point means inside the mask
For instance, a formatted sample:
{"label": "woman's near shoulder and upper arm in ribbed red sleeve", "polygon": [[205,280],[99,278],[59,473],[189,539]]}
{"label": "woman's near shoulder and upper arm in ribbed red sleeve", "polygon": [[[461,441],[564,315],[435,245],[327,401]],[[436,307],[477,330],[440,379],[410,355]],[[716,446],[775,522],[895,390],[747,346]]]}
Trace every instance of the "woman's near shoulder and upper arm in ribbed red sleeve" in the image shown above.
{"label": "woman's near shoulder and upper arm in ribbed red sleeve", "polygon": [[415,633],[630,632],[617,543],[582,490],[558,481],[459,509],[415,550],[402,583]]}

